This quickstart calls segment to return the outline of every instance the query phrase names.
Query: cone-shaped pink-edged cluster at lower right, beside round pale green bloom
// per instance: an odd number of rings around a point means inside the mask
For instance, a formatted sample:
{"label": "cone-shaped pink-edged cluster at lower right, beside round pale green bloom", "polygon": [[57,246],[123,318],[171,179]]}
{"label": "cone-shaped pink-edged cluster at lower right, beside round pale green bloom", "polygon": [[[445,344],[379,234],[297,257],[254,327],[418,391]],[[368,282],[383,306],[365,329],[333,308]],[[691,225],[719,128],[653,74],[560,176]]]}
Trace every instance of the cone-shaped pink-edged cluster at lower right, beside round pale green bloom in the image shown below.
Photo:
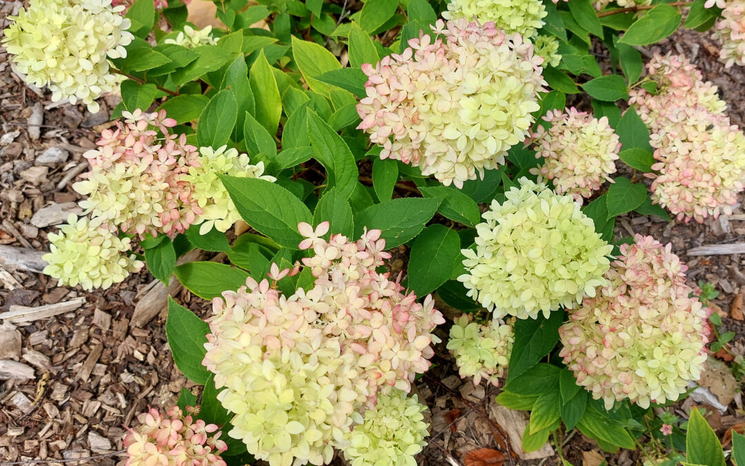
{"label": "cone-shaped pink-edged cluster at lower right, beside round pale green bloom", "polygon": [[628,399],[647,408],[676,400],[706,361],[710,309],[691,296],[671,245],[635,236],[606,274],[609,285],[559,328],[577,384],[607,409]]}

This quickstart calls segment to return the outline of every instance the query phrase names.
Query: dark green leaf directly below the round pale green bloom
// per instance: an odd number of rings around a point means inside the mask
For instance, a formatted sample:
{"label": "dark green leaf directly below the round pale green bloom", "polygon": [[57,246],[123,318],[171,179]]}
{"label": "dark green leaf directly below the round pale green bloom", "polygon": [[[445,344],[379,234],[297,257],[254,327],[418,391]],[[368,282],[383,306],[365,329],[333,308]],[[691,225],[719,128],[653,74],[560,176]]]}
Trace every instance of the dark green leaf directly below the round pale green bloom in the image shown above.
{"label": "dark green leaf directly below the round pale green bloom", "polygon": [[539,314],[537,318],[515,322],[515,343],[507,366],[510,379],[519,377],[554,349],[562,321],[564,312],[554,311],[548,319]]}

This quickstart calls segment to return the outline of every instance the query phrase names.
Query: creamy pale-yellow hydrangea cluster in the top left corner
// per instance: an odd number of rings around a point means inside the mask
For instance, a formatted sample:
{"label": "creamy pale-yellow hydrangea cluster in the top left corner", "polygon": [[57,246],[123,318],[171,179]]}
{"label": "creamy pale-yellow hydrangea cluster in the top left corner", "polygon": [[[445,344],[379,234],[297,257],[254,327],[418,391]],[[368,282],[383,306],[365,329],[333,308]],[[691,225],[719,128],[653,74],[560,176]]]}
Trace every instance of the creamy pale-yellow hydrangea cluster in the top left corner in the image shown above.
{"label": "creamy pale-yellow hydrangea cluster in the top left corner", "polygon": [[112,75],[109,58],[127,57],[130,20],[111,0],[31,0],[10,16],[5,49],[18,72],[36,86],[48,86],[51,100],[77,101],[98,112],[96,98],[118,90],[124,77]]}

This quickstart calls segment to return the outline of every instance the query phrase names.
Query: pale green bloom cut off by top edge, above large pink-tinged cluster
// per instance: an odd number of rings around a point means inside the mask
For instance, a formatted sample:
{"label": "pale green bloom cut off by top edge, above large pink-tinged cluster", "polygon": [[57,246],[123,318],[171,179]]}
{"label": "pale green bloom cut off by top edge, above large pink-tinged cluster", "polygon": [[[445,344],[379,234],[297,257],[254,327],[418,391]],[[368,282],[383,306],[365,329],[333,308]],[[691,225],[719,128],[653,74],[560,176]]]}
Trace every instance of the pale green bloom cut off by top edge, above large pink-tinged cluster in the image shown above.
{"label": "pale green bloom cut off by top edge, above large pink-tinged cluster", "polygon": [[450,0],[443,18],[493,22],[495,28],[507,34],[517,33],[529,39],[543,27],[547,14],[541,0]]}

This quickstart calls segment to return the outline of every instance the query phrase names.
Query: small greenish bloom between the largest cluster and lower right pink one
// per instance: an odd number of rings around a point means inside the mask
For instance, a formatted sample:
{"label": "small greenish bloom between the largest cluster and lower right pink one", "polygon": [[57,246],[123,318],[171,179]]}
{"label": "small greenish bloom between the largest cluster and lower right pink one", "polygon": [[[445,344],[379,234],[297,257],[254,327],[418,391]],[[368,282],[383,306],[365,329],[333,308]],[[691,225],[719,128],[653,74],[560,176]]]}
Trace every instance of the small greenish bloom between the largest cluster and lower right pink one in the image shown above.
{"label": "small greenish bloom between the largest cluster and lower right pink one", "polygon": [[515,319],[509,319],[507,323],[492,319],[487,325],[477,324],[472,319],[472,315],[463,314],[453,321],[448,350],[455,356],[460,377],[473,377],[474,385],[481,383],[483,378],[498,387],[499,377],[510,362],[515,342]]}

